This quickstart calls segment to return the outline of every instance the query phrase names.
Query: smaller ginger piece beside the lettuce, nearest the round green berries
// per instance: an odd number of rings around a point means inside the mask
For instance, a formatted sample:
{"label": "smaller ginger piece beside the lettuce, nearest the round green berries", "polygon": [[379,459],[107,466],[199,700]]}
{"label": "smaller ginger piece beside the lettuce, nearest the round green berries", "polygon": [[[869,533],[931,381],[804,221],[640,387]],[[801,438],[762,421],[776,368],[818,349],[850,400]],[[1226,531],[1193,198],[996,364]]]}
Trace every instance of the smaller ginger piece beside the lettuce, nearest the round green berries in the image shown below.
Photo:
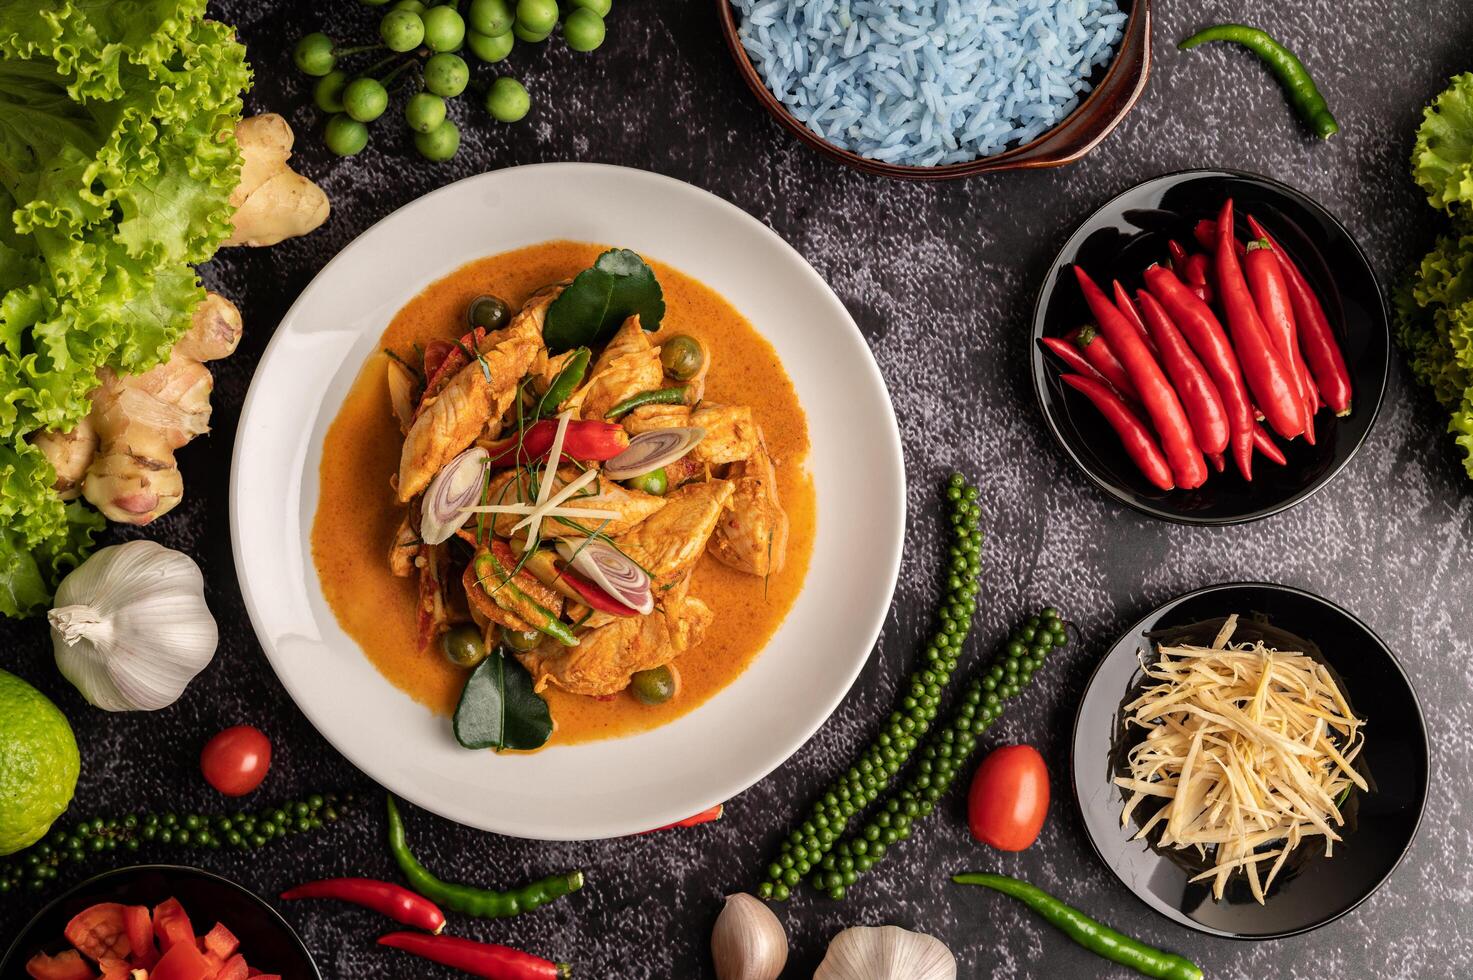
{"label": "smaller ginger piece beside the lettuce, nearest the round green berries", "polygon": [[225,245],[275,245],[327,221],[327,195],[287,167],[295,140],[292,127],[274,112],[236,124],[240,184],[230,195],[236,230]]}

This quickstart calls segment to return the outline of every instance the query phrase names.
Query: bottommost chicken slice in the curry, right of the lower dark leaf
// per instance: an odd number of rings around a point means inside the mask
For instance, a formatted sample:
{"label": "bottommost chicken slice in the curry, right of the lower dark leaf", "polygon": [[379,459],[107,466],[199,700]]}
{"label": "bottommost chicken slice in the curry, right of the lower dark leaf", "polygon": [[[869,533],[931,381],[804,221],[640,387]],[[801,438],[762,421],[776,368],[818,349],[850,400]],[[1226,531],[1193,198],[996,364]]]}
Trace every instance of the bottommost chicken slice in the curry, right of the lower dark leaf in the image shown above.
{"label": "bottommost chicken slice in the curry, right of the lower dark leaf", "polygon": [[706,635],[716,615],[698,598],[669,601],[648,616],[629,616],[591,629],[576,647],[544,644],[517,657],[538,691],[554,684],[573,694],[601,697],[629,687],[635,671],[669,663]]}

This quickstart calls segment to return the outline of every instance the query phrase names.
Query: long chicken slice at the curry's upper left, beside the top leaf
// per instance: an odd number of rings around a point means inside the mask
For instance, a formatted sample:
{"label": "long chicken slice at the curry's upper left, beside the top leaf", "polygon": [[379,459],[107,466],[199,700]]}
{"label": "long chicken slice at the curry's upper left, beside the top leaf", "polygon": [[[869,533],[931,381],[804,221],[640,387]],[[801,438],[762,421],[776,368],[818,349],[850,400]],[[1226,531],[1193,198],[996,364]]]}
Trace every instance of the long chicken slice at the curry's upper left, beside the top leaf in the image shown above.
{"label": "long chicken slice at the curry's upper left, beside the top leaf", "polygon": [[435,401],[421,407],[399,455],[399,501],[429,486],[442,466],[476,441],[516,398],[517,382],[542,349],[542,321],[560,287],[545,289],[501,330],[486,335],[479,352]]}

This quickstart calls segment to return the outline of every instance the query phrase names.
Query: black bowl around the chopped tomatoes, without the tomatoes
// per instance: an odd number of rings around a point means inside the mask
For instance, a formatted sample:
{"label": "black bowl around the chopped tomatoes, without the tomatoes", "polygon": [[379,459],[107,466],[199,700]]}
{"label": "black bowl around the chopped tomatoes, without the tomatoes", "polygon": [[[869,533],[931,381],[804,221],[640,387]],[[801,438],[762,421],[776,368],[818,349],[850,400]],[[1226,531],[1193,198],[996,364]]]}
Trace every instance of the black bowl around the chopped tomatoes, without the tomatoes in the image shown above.
{"label": "black bowl around the chopped tomatoes, without the tomatoes", "polygon": [[283,980],[323,980],[312,955],[275,909],[228,878],[177,865],[106,871],[55,899],[10,943],[10,951],[0,959],[0,980],[29,980],[27,959],[38,952],[66,949],[69,943],[62,930],[88,905],[122,902],[153,908],[171,896],[189,912],[196,933],[224,923],[256,970],[278,973]]}

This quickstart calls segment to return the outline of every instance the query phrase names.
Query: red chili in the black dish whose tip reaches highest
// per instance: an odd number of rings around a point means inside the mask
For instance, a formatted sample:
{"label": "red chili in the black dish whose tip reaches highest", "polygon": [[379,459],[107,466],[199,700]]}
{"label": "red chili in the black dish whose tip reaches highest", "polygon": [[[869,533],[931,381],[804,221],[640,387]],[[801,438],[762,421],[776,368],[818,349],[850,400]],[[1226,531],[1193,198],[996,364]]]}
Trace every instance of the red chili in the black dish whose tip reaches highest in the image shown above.
{"label": "red chili in the black dish whose tip reaches highest", "polygon": [[1217,290],[1227,312],[1233,349],[1243,365],[1243,379],[1268,424],[1284,439],[1304,432],[1304,404],[1293,386],[1289,365],[1279,357],[1258,307],[1248,292],[1243,267],[1233,249],[1233,199],[1223,202],[1217,218]]}

